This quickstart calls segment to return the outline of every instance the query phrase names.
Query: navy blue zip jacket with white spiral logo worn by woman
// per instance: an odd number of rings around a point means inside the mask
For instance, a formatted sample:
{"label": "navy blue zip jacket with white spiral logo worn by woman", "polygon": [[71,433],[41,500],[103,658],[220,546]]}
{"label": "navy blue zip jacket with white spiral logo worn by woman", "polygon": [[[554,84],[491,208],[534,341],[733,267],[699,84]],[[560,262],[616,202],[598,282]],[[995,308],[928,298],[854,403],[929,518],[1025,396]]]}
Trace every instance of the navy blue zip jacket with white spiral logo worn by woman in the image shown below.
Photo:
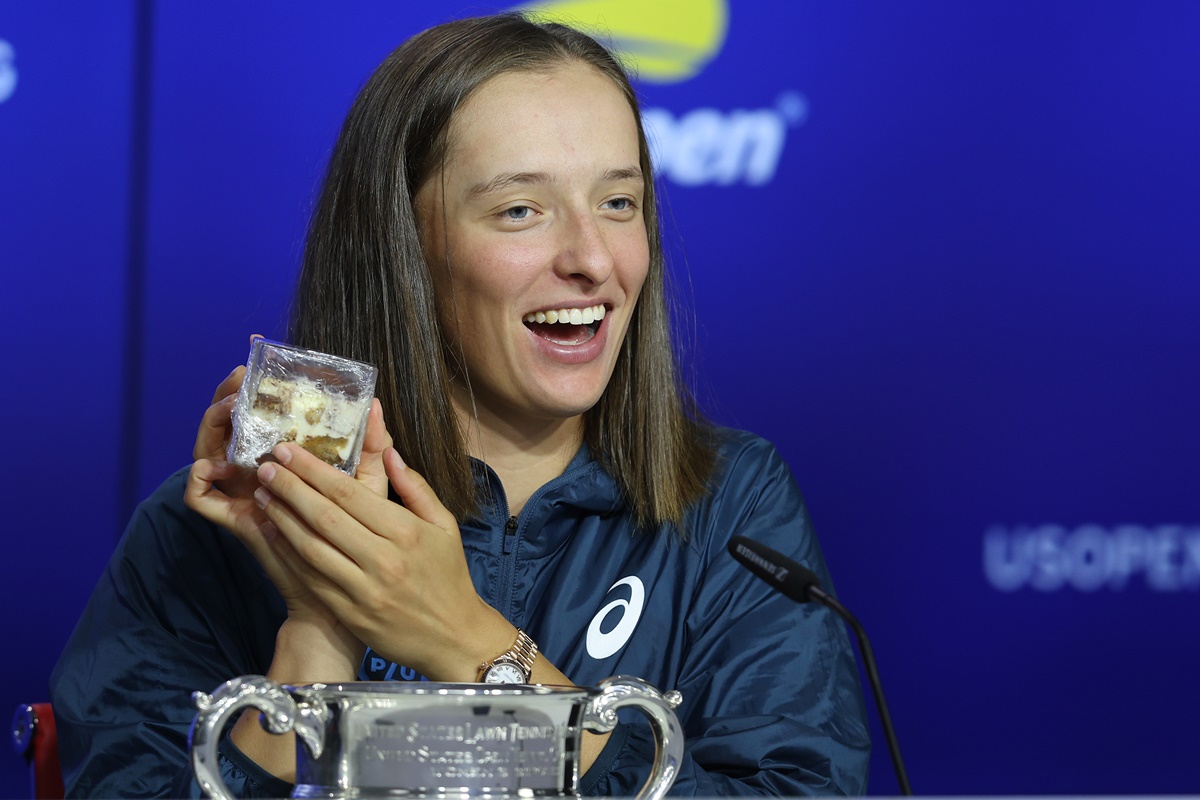
{"label": "navy blue zip jacket with white spiral logo worn by woman", "polygon": [[[774,594],[726,552],[756,539],[829,576],[799,489],[768,443],[722,432],[714,488],[685,530],[640,531],[612,476],[582,450],[510,524],[476,464],[484,519],[462,527],[480,596],[578,685],[635,675],[679,690],[678,795],[862,794],[869,739],[845,627]],[[186,470],[143,503],[52,675],[68,796],[196,794],[190,694],[265,674],[286,610],[257,561],[182,503]],[[420,680],[367,650],[364,680]],[[629,795],[653,760],[623,722],[583,794]],[[235,794],[290,787],[222,745]]]}

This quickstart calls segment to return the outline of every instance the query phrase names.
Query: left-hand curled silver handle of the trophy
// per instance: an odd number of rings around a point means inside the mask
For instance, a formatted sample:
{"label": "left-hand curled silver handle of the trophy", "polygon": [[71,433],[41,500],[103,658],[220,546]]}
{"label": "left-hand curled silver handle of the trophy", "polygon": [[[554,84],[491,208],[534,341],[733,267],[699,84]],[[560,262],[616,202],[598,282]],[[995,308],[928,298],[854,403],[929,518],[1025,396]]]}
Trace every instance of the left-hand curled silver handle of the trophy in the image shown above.
{"label": "left-hand curled silver handle of the trophy", "polygon": [[215,800],[234,800],[229,787],[221,778],[217,744],[226,723],[245,708],[254,706],[262,715],[263,728],[274,734],[295,730],[314,758],[320,757],[324,744],[325,717],[323,706],[300,703],[278,684],[262,675],[244,675],[221,684],[212,694],[193,692],[192,702],[199,709],[188,734],[192,769],[204,794]]}

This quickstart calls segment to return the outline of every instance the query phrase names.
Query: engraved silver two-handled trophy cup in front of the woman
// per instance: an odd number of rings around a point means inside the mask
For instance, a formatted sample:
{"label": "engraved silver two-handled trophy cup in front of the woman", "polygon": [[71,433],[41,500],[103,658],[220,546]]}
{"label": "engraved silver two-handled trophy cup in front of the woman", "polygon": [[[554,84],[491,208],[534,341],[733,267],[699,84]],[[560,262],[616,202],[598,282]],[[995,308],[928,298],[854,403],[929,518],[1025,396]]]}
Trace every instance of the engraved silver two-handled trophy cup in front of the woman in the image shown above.
{"label": "engraved silver two-handled trophy cup in front of the woman", "polygon": [[617,709],[649,717],[655,736],[640,798],[674,783],[683,732],[666,697],[637,678],[595,687],[486,684],[352,682],[281,686],[235,678],[192,696],[192,766],[210,798],[229,799],[217,765],[226,724],[253,706],[274,734],[296,734],[294,798],[578,796],[584,730],[607,733]]}

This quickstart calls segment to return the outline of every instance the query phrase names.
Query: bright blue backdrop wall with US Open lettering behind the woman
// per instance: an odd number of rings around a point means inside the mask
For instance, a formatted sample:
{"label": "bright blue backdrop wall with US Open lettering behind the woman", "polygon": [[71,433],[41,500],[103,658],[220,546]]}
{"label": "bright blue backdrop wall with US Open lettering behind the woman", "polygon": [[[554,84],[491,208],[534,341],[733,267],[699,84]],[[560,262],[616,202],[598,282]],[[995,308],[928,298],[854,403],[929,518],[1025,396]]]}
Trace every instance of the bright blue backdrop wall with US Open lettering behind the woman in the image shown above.
{"label": "bright blue backdrop wall with US Open lettering behind the woman", "polygon": [[[792,464],[917,790],[1200,790],[1200,4],[550,6],[643,56],[698,392]],[[0,714],[282,333],[362,80],[488,10],[5,2]]]}

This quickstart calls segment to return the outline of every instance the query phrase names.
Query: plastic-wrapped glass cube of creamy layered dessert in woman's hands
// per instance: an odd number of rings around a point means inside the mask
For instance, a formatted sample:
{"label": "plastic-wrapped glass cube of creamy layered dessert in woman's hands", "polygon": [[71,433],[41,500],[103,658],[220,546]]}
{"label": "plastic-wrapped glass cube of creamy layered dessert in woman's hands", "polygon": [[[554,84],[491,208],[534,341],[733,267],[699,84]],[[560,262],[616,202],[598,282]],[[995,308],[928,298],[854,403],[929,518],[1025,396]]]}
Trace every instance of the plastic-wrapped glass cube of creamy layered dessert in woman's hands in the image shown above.
{"label": "plastic-wrapped glass cube of creamy layered dessert in woman's hands", "polygon": [[234,399],[228,459],[253,468],[275,445],[294,441],[353,475],[376,375],[370,363],[256,339]]}

